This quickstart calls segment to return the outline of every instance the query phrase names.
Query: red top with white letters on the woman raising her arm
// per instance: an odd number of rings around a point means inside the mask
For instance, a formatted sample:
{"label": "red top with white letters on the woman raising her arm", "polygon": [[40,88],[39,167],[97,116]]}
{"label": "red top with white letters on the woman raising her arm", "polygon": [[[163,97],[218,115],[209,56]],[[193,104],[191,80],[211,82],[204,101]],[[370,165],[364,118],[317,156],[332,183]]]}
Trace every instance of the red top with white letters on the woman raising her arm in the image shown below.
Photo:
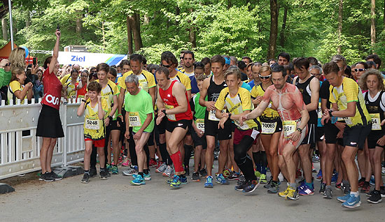
{"label": "red top with white letters on the woman raising her arm", "polygon": [[63,85],[54,73],[49,72],[50,68],[47,68],[43,73],[44,96],[41,104],[59,110]]}

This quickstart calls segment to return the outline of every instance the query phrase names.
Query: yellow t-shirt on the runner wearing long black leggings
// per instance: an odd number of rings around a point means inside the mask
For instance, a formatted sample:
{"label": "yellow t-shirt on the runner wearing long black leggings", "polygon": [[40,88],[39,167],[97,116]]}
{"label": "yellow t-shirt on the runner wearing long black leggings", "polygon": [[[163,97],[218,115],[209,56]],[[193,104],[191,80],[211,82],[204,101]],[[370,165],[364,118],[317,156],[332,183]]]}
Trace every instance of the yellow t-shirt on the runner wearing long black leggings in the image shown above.
{"label": "yellow t-shirt on the runner wearing long black leggings", "polygon": [[[218,110],[223,110],[225,106],[231,114],[241,114],[246,110],[252,110],[253,103],[251,103],[250,92],[247,89],[239,87],[237,95],[235,97],[231,97],[228,87],[222,89],[221,94],[219,94],[215,103],[215,107]],[[239,124],[238,120],[234,120],[234,123],[241,130],[258,128],[258,124],[253,119],[245,121],[243,126]]]}

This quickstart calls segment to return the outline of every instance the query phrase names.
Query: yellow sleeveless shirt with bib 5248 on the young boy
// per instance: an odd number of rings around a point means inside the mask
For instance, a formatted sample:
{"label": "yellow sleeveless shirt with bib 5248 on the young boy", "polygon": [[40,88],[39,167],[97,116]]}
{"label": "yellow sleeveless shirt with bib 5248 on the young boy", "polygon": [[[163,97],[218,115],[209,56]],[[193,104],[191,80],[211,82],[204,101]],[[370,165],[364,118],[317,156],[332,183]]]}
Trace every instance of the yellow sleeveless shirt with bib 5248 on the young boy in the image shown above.
{"label": "yellow sleeveless shirt with bib 5248 on the young boy", "polygon": [[[102,140],[106,137],[104,119],[99,119],[98,117],[99,103],[97,103],[94,108],[91,106],[90,99],[85,103],[85,119],[84,119],[84,137],[90,138],[92,140]],[[108,105],[106,99],[102,98],[102,109],[106,113],[111,112],[111,106]]]}

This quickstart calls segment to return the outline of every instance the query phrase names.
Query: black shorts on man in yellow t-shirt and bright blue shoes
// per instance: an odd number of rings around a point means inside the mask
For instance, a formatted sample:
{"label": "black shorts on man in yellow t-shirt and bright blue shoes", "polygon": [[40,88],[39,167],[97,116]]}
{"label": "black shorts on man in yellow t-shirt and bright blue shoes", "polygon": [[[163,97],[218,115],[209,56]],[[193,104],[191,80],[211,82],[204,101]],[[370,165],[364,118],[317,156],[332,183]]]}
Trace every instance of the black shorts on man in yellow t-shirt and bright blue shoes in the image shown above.
{"label": "black shorts on man in yellow t-shirt and bright blue shoes", "polygon": [[358,147],[362,150],[365,145],[367,135],[372,131],[372,124],[347,126],[344,129],[344,146]]}

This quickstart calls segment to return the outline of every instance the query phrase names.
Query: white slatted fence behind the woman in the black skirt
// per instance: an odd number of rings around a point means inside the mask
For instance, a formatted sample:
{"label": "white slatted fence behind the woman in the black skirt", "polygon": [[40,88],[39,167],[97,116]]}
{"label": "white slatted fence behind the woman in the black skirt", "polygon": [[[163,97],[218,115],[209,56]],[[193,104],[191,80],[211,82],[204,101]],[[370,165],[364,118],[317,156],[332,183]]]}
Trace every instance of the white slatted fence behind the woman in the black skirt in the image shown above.
{"label": "white slatted fence behind the woman in the black skirt", "polygon": [[[64,138],[57,140],[52,166],[83,161],[84,117],[77,116],[80,100],[75,102],[60,105]],[[10,104],[13,104],[12,101]],[[26,105],[20,105],[20,101],[17,104],[0,106],[0,179],[41,170],[39,156],[42,139],[36,137],[41,104],[27,104],[27,101]]]}

